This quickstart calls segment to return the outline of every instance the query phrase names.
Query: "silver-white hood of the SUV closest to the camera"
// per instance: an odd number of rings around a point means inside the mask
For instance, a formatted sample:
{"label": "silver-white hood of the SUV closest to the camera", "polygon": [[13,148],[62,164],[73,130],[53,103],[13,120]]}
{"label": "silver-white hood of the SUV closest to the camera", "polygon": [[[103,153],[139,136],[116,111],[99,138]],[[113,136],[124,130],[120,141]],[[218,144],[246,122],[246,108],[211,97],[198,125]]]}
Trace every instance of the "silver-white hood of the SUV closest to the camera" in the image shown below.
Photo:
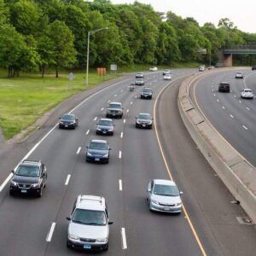
{"label": "silver-white hood of the SUV closest to the camera", "polygon": [[68,226],[68,233],[74,236],[79,236],[82,238],[108,238],[108,225],[105,226],[95,226],[95,225],[85,225],[77,224],[71,222]]}

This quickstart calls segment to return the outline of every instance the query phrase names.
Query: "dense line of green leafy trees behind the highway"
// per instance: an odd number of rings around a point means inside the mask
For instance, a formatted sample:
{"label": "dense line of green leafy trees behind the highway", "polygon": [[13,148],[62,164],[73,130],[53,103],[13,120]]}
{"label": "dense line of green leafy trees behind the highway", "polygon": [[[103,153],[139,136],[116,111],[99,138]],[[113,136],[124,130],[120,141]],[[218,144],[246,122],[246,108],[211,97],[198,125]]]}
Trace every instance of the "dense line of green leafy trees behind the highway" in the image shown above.
{"label": "dense line of green leafy trees behind the highway", "polygon": [[[175,61],[218,61],[218,50],[256,44],[256,34],[241,32],[227,18],[199,26],[194,18],[163,18],[148,5],[113,4],[108,0],[0,0],[0,67],[9,77],[20,71],[84,68],[87,33],[90,66],[133,63],[172,65]],[[199,49],[207,49],[206,55]],[[251,64],[252,55],[237,58]]]}

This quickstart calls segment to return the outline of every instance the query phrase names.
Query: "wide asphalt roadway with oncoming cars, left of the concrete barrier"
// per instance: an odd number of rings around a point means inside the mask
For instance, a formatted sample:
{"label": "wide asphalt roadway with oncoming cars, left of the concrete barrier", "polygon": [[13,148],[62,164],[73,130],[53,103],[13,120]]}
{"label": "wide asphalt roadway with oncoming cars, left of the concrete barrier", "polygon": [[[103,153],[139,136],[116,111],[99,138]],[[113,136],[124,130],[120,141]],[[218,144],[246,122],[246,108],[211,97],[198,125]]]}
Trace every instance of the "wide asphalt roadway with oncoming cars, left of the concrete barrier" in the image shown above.
{"label": "wide asphalt roadway with oncoming cars, left of the concrete barrier", "polygon": [[[144,86],[153,89],[153,100],[138,98],[142,86],[130,92],[130,78],[100,87],[73,108],[78,129],[59,130],[52,120],[25,143],[9,146],[0,158],[0,255],[82,254],[66,247],[66,217],[79,194],[107,200],[113,225],[104,255],[255,255],[255,230],[237,222],[236,216],[244,212],[230,203],[230,193],[196,149],[177,113],[178,86],[195,72],[175,70],[171,82],[164,81],[161,72],[147,73]],[[98,136],[96,122],[105,117],[108,102],[122,102],[124,117],[114,119],[113,137]],[[153,130],[135,128],[139,112],[154,114]],[[84,147],[92,138],[108,139],[108,165],[85,162]],[[10,196],[9,183],[4,183],[26,154],[30,160],[42,160],[48,169],[40,199]],[[168,172],[183,191],[180,215],[148,210],[148,182],[170,178]]]}

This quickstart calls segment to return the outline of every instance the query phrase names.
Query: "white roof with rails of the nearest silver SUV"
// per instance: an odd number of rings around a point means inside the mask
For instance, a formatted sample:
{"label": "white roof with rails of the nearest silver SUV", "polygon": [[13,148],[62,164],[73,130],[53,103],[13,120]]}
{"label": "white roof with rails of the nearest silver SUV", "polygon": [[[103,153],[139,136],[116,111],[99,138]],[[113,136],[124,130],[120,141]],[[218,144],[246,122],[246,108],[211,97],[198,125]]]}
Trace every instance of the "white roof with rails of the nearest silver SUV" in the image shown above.
{"label": "white roof with rails of the nearest silver SUV", "polygon": [[76,201],[76,207],[79,209],[105,211],[105,198],[98,195],[79,195]]}

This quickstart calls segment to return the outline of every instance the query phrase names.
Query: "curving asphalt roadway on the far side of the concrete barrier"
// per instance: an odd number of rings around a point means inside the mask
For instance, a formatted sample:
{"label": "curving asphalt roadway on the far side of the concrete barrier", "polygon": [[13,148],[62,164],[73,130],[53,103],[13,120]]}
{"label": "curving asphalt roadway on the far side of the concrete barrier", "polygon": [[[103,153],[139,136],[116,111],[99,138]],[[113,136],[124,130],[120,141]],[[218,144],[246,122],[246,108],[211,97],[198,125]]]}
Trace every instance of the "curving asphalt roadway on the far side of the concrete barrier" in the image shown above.
{"label": "curving asphalt roadway on the far side of the concrete barrier", "polygon": [[[244,79],[235,79],[235,70],[200,79],[195,88],[195,98],[219,133],[256,166],[256,101],[240,97],[244,88],[252,89],[256,94],[256,73],[249,69],[242,72]],[[221,81],[230,82],[230,93],[218,92]]]}

